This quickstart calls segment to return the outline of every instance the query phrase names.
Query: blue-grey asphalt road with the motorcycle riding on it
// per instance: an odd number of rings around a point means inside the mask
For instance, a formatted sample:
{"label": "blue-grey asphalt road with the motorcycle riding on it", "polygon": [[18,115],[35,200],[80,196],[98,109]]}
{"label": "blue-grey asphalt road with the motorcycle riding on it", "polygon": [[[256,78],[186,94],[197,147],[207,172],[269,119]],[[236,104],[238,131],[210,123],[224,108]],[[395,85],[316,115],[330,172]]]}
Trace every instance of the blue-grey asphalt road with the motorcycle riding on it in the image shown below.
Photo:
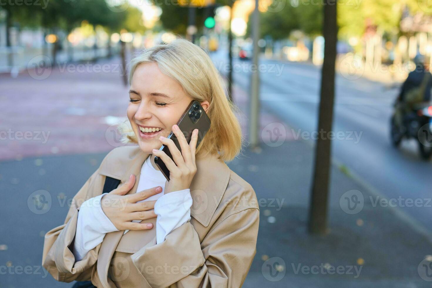
{"label": "blue-grey asphalt road with the motorcycle riding on it", "polygon": [[[225,61],[222,54],[214,54],[213,59],[224,72],[219,62]],[[250,64],[234,61],[234,82],[245,90],[250,87]],[[264,64],[260,74],[262,107],[295,127],[287,133],[305,140],[316,136],[320,68],[265,59],[260,64]],[[339,133],[339,140],[333,141],[334,160],[385,198],[365,201],[376,205],[389,201],[387,205],[401,208],[408,218],[432,231],[432,165],[420,159],[416,141],[403,142],[399,150],[389,141],[388,123],[397,89],[364,78],[349,80],[340,74],[336,85],[333,130]],[[413,207],[407,207],[410,205]]]}

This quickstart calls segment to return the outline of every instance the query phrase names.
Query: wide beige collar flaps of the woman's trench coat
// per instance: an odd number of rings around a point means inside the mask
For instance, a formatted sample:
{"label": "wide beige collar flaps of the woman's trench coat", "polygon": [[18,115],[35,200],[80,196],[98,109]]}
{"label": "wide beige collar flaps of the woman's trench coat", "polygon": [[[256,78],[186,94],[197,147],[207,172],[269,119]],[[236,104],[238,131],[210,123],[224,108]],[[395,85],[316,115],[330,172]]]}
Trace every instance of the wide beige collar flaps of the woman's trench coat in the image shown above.
{"label": "wide beige collar flaps of the woman's trench coat", "polygon": [[[138,182],[141,167],[148,156],[137,145],[115,148],[105,157],[99,174],[119,179],[122,183],[129,179],[130,174],[135,174]],[[207,227],[228,185],[230,169],[216,155],[197,157],[195,163],[197,173],[190,186],[193,202],[191,216]],[[168,180],[165,187],[167,184]],[[136,189],[137,183],[127,194],[137,192]]]}

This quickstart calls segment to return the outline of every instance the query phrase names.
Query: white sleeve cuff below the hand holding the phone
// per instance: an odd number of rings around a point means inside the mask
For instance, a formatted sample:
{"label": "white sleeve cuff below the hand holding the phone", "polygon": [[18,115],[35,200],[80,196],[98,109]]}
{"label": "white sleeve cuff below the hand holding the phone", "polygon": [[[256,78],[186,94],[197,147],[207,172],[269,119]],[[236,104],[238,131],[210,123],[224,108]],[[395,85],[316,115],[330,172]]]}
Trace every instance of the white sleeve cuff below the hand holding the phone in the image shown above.
{"label": "white sleeve cuff below the hand holding the phone", "polygon": [[156,244],[177,227],[191,220],[192,196],[190,189],[162,195],[155,203]]}

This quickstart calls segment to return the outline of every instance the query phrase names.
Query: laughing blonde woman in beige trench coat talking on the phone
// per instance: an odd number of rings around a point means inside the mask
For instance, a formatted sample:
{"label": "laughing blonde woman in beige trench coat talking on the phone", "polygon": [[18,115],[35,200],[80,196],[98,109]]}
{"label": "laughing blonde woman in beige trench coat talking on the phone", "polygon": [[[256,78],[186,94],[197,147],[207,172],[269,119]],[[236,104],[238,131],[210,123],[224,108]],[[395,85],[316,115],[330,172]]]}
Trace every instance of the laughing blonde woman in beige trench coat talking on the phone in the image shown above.
{"label": "laughing blonde woman in beige trench coat talking on the phone", "polygon": [[[43,266],[58,281],[97,287],[240,287],[256,253],[259,206],[225,164],[242,136],[218,71],[201,48],[176,39],[134,58],[129,81],[136,145],[112,150],[74,196],[64,224],[45,235]],[[187,144],[175,125],[192,100],[211,120],[198,147],[200,131]],[[171,131],[181,150],[164,138]],[[103,193],[112,179],[120,185]]]}

